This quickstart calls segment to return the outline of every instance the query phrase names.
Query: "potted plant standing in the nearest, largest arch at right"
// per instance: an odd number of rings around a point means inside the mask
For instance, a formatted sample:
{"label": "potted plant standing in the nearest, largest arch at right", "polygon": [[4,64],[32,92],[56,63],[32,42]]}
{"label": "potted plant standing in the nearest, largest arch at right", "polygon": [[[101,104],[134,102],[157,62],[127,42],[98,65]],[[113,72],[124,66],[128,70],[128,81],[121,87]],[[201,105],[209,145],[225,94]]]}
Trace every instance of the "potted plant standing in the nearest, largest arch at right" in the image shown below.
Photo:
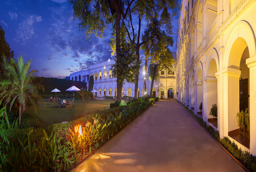
{"label": "potted plant standing in the nearest, largest arch at right", "polygon": [[245,135],[246,132],[250,132],[250,115],[248,114],[248,108],[245,111],[237,113],[237,126],[239,127],[239,136],[241,134]]}

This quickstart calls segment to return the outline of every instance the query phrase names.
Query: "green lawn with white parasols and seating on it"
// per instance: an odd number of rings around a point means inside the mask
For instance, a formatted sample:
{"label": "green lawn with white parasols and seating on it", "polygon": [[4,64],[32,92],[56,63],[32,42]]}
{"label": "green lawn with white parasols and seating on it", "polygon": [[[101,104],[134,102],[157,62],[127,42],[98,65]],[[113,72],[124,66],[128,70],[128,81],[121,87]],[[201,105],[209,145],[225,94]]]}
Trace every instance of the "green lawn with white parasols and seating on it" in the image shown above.
{"label": "green lawn with white parasols and seating on it", "polygon": [[[61,101],[65,99],[66,101],[71,101],[73,98],[61,98]],[[83,116],[83,101],[74,99],[74,107],[64,107],[59,108],[58,102],[48,102],[48,98],[44,98],[44,103],[46,107],[39,101],[39,109],[37,114],[35,113],[33,107],[30,109],[26,108],[26,113],[39,117],[43,120],[49,121],[50,123],[61,123],[63,121],[74,120],[77,117]],[[103,108],[109,109],[109,104],[114,103],[112,99],[105,100],[90,100],[85,107],[84,115],[90,114],[96,111],[102,111]]]}

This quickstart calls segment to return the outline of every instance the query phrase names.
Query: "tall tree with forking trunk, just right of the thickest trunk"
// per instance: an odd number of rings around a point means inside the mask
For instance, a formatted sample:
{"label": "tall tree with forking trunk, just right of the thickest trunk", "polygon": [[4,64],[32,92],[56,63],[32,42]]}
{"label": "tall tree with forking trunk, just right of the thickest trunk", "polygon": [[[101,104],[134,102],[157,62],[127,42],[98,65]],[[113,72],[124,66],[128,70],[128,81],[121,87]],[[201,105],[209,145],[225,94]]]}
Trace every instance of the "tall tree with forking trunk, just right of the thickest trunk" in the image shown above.
{"label": "tall tree with forking trunk, just right of the thickest trunk", "polygon": [[[130,1],[126,0],[126,4]],[[139,50],[141,46],[145,43],[145,41],[140,41],[141,36],[141,24],[142,19],[146,22],[151,22],[154,18],[160,18],[161,27],[165,28],[167,34],[172,35],[172,22],[173,17],[178,15],[179,10],[179,0],[139,0],[133,3],[133,5],[128,10],[128,15],[126,20],[123,20],[125,23],[126,31],[128,34],[128,38],[130,43],[133,43],[134,48],[136,49],[137,55],[137,66],[140,64],[140,56]],[[136,20],[134,18],[137,18]],[[135,21],[138,21],[135,25],[138,29],[134,29],[133,25]],[[136,69],[136,76],[135,76],[135,92],[134,97],[137,98],[138,96],[138,85],[139,85],[139,70],[140,68]]]}

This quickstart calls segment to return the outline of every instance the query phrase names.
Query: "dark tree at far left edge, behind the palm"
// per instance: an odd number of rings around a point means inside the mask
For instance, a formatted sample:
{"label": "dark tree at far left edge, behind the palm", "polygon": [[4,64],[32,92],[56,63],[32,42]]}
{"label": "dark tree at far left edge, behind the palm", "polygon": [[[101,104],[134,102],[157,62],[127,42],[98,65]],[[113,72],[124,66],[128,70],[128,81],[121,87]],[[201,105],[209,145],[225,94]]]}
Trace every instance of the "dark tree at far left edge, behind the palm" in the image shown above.
{"label": "dark tree at far left edge, behind the palm", "polygon": [[4,70],[3,68],[3,58],[6,59],[6,61],[9,61],[11,58],[13,58],[13,50],[11,51],[11,48],[9,47],[9,43],[6,42],[5,39],[5,32],[2,28],[2,23],[0,22],[0,75],[3,75]]}

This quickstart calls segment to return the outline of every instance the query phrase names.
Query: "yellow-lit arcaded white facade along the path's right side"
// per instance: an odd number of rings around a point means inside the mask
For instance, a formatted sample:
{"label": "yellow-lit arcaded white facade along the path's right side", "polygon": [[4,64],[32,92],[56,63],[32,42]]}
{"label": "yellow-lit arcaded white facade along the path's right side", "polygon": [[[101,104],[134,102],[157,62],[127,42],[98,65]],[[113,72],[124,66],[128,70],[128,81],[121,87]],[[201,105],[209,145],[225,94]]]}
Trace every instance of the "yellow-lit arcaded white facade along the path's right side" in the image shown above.
{"label": "yellow-lit arcaded white facade along the path's right side", "polygon": [[[238,147],[256,154],[256,1],[183,0],[177,30],[177,99]],[[202,112],[199,110],[202,102]],[[210,116],[217,104],[214,123]],[[237,112],[249,109],[240,137]],[[249,137],[247,136],[249,135]]]}

